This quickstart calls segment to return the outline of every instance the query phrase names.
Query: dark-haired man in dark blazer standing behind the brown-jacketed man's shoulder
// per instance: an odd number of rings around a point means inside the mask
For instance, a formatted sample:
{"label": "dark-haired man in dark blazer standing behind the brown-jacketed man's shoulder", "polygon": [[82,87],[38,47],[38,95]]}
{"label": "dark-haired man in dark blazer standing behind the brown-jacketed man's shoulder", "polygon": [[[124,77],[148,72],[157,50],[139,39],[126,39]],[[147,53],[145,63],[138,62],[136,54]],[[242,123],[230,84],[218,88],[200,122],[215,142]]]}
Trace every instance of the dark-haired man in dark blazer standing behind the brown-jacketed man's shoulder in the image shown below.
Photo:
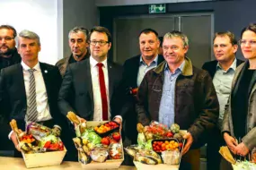
{"label": "dark-haired man in dark blazer standing behind the brown-jacketed man's shoulder", "polygon": [[[124,79],[128,89],[128,114],[125,121],[125,134],[131,143],[137,143],[137,118],[135,111],[136,91],[147,71],[163,62],[163,55],[158,55],[160,41],[153,29],[141,30],[138,36],[140,55],[129,58],[124,64]],[[130,90],[130,91],[129,91]]]}

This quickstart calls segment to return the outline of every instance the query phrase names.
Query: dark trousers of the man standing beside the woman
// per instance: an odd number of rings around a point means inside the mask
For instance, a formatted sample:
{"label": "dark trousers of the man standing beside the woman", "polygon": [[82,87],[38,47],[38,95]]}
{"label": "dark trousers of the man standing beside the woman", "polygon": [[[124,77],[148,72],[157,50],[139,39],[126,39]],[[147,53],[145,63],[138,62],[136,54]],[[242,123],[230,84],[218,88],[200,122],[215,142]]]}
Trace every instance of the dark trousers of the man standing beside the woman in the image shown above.
{"label": "dark trousers of the man standing beside the woman", "polygon": [[208,135],[207,140],[207,170],[219,170],[221,155],[218,150],[221,146],[225,146],[225,140],[220,130],[216,127]]}

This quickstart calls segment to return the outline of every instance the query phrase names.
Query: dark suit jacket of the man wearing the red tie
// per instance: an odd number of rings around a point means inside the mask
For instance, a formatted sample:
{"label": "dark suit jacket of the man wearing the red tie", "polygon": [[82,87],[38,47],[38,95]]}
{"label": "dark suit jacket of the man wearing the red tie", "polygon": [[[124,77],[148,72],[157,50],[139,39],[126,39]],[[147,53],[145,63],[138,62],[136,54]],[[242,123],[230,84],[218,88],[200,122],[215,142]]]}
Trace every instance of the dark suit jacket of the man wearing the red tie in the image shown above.
{"label": "dark suit jacket of the man wearing the red tie", "polygon": [[[108,61],[109,100],[111,118],[121,115],[122,94],[125,93],[122,84],[122,67]],[[87,121],[93,120],[93,85],[90,59],[68,64],[58,96],[60,112],[66,116],[73,111]]]}

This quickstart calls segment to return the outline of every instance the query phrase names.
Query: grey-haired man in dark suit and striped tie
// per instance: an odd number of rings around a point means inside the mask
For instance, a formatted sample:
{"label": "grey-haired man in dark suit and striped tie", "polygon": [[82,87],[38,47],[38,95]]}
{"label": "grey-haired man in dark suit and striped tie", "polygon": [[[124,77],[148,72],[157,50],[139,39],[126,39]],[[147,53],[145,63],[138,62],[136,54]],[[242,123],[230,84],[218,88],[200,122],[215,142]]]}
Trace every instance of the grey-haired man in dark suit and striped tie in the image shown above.
{"label": "grey-haired man in dark suit and striped tie", "polygon": [[[60,125],[57,95],[61,76],[56,66],[39,62],[39,36],[29,30],[22,30],[18,39],[18,52],[22,56],[22,63],[4,68],[0,75],[0,113],[4,115],[5,123],[9,124],[15,119],[22,131],[30,122],[42,123],[50,128],[54,124]],[[5,138],[9,133],[9,139],[19,150],[14,132],[11,132],[9,125],[6,127]],[[15,153],[14,156],[18,156]]]}

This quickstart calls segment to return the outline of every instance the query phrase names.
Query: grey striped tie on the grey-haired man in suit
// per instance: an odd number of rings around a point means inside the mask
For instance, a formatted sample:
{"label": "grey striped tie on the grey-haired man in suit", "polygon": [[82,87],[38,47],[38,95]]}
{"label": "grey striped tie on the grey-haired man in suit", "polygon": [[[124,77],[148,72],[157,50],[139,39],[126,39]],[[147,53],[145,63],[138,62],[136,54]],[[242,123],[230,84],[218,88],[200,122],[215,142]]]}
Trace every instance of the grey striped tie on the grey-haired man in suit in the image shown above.
{"label": "grey striped tie on the grey-haired man in suit", "polygon": [[37,94],[36,94],[36,83],[34,72],[35,69],[30,69],[30,95],[28,97],[28,121],[36,122],[38,118],[38,111],[37,111]]}

